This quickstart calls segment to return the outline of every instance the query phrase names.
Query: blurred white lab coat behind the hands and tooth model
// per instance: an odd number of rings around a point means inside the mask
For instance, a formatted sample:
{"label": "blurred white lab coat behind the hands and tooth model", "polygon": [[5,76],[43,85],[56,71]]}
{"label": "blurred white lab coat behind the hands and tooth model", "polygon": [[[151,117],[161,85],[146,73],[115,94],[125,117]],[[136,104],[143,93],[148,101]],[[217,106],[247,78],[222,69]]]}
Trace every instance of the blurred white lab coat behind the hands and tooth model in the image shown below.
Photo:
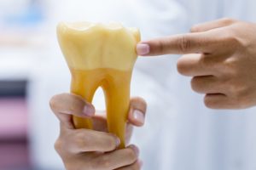
{"label": "blurred white lab coat behind the hands and tooth model", "polygon": [[[87,1],[84,6],[84,1],[73,1],[73,5],[63,1],[60,13],[52,16],[55,20],[121,21],[125,26],[139,27],[143,39],[189,31],[196,23],[222,17],[256,20],[253,0],[94,2]],[[97,5],[99,2],[101,6]],[[63,16],[61,10],[73,14]],[[118,14],[110,14],[111,11]],[[30,86],[32,159],[38,167],[58,169],[61,160],[53,150],[58,122],[49,111],[48,100],[53,94],[68,91],[70,76],[56,41],[50,49],[44,54],[48,57],[44,67],[34,70]],[[141,148],[143,169],[256,169],[255,108],[207,109],[202,96],[191,91],[189,78],[177,74],[176,60],[177,56],[167,55],[138,59],[136,65],[131,91],[148,101],[146,125],[136,129],[132,140]],[[102,107],[102,99],[99,100],[95,103]]]}

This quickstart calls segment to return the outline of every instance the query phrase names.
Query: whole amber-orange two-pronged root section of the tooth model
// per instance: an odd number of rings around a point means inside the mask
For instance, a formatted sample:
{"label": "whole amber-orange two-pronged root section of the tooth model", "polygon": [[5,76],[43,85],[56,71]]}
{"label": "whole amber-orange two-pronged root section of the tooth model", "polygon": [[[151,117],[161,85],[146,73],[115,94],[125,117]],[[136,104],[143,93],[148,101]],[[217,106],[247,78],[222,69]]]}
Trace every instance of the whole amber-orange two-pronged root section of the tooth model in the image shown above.
{"label": "whole amber-orange two-pronged root section of the tooth model", "polygon": [[[125,147],[125,124],[130,105],[131,71],[116,69],[96,69],[89,71],[72,70],[73,94],[82,96],[91,102],[96,89],[102,87],[105,94],[108,131],[121,140],[120,147]],[[73,117],[76,128],[92,128],[90,119]]]}

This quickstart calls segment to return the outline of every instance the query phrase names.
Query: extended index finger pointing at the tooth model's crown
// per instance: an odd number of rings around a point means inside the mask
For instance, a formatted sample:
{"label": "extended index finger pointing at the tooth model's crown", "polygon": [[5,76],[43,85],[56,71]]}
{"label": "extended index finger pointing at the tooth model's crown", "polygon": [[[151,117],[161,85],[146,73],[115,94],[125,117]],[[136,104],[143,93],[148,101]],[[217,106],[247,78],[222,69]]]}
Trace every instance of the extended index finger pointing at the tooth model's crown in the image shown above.
{"label": "extended index finger pointing at the tooth model's crown", "polygon": [[[217,34],[218,35],[218,34]],[[163,54],[212,54],[217,38],[213,31],[195,32],[171,37],[160,37],[137,44],[137,54],[154,56]]]}

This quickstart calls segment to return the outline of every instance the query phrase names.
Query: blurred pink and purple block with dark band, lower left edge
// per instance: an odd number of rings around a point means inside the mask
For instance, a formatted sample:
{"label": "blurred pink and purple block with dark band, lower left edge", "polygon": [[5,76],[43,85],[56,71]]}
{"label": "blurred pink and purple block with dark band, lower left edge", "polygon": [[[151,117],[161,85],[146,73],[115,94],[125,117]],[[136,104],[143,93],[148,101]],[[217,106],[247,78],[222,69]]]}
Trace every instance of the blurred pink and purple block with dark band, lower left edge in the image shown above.
{"label": "blurred pink and purple block with dark band, lower left edge", "polygon": [[29,167],[26,128],[26,99],[0,98],[1,170]]}

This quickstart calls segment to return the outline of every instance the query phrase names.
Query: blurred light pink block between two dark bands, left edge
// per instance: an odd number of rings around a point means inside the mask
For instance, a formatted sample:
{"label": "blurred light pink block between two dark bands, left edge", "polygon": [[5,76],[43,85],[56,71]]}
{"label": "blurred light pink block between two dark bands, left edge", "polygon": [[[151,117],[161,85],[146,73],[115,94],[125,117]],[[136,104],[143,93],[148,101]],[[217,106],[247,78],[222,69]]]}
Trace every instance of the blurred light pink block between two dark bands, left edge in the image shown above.
{"label": "blurred light pink block between two dark bands, left edge", "polygon": [[27,134],[26,128],[26,99],[0,98],[0,140],[24,139]]}

